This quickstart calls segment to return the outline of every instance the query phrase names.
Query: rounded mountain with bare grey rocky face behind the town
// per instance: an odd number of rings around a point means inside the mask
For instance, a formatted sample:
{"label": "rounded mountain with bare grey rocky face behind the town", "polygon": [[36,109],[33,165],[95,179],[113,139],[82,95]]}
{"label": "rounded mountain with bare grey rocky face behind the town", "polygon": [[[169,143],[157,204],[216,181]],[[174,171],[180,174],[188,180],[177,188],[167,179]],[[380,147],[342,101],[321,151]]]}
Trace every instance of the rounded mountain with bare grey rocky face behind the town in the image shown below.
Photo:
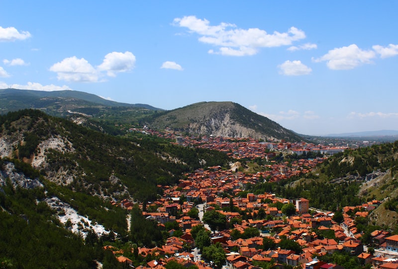
{"label": "rounded mountain with bare grey rocky face behind the town", "polygon": [[300,141],[302,138],[278,123],[233,102],[201,102],[148,117],[152,128],[223,137]]}

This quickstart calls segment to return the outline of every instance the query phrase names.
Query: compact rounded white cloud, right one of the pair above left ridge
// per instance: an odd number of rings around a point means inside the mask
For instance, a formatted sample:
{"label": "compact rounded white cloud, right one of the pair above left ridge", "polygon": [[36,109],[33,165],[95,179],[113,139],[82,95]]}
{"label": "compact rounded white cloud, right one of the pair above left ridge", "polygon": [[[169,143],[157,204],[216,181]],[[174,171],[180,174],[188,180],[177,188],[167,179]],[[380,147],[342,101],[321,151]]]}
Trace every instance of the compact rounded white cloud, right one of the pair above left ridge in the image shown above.
{"label": "compact rounded white cloud, right one of the pair above left ridge", "polygon": [[131,52],[111,52],[105,55],[98,70],[107,71],[108,76],[116,76],[116,72],[126,72],[135,66],[135,56]]}

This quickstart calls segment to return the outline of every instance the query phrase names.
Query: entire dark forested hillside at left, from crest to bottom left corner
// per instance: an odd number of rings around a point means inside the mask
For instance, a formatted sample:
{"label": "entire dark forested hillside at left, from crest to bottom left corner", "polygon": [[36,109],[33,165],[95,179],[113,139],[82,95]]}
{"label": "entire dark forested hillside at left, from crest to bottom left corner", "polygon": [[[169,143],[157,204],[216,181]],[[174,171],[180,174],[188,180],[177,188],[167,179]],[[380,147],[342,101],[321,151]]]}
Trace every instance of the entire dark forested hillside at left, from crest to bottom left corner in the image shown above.
{"label": "entire dark forested hillside at left, from crest to bottom left corner", "polygon": [[145,203],[162,192],[157,185],[228,161],[149,135],[104,135],[38,110],[0,116],[0,156],[1,268],[122,268],[103,249],[116,236],[132,240],[127,211],[113,199]]}

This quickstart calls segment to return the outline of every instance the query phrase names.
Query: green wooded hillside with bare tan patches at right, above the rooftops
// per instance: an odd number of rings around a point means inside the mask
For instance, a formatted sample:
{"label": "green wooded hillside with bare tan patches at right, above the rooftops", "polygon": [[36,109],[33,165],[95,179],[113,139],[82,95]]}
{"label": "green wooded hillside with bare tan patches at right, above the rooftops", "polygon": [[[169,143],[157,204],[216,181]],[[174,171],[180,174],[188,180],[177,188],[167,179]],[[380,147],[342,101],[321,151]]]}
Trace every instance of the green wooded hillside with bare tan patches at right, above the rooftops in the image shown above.
{"label": "green wooded hillside with bare tan patches at right, above the rooftops", "polygon": [[306,198],[315,208],[336,211],[372,200],[382,204],[370,215],[375,225],[395,229],[398,212],[398,141],[335,154],[301,178],[261,183],[249,191],[288,199]]}

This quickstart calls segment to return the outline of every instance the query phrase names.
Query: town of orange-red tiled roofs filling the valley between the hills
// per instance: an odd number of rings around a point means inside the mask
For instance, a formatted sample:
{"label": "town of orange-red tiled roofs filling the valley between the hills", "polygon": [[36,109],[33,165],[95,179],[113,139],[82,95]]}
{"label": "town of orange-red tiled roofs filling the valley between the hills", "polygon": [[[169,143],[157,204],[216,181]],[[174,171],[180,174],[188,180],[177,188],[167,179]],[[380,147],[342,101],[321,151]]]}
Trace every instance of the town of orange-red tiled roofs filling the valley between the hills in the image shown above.
{"label": "town of orange-red tiled roofs filling the valley between the hills", "polygon": [[[145,132],[154,135],[154,132]],[[288,200],[272,193],[245,192],[249,184],[279,182],[311,171],[328,155],[342,152],[346,147],[330,147],[305,142],[260,142],[255,139],[201,137],[191,139],[169,133],[155,134],[175,139],[177,144],[200,146],[226,152],[236,160],[270,160],[265,171],[247,174],[235,169],[208,167],[188,173],[176,186],[164,188],[163,196],[148,204],[139,204],[143,216],[157,223],[170,237],[166,244],[154,248],[145,246],[130,249],[130,253],[112,246],[117,260],[133,267],[129,259],[137,252],[142,257],[155,257],[144,268],[163,269],[174,261],[184,268],[199,269],[214,266],[224,269],[303,268],[341,269],[339,264],[322,259],[334,253],[354,257],[363,268],[398,268],[398,236],[384,230],[370,234],[371,244],[361,241],[363,233],[356,223],[380,205],[373,200],[341,211],[322,211],[312,208],[311,201],[301,198]],[[323,157],[302,158],[286,162],[273,160],[278,154],[306,156],[310,152]],[[159,186],[160,187],[160,186]],[[131,210],[133,202],[114,202]],[[221,220],[221,221],[219,221]],[[167,223],[175,222],[178,229],[166,230]],[[207,231],[209,245],[222,249],[225,259],[205,259],[198,231]],[[203,234],[203,233],[202,233]],[[208,246],[207,246],[208,247]],[[214,249],[213,249],[214,251]]]}

